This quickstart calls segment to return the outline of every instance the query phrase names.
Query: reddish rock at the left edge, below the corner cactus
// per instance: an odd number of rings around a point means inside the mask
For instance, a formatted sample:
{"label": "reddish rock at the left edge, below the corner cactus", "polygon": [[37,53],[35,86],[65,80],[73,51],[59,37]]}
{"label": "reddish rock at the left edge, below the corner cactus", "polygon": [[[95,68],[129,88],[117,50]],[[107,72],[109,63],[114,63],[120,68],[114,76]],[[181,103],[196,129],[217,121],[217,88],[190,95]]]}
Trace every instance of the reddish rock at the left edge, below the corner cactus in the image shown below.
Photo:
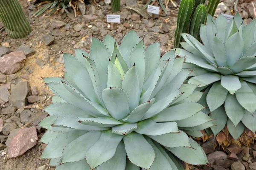
{"label": "reddish rock at the left edge, below the corner cactus", "polygon": [[0,71],[4,74],[14,74],[24,67],[26,59],[22,51],[14,51],[0,58]]}

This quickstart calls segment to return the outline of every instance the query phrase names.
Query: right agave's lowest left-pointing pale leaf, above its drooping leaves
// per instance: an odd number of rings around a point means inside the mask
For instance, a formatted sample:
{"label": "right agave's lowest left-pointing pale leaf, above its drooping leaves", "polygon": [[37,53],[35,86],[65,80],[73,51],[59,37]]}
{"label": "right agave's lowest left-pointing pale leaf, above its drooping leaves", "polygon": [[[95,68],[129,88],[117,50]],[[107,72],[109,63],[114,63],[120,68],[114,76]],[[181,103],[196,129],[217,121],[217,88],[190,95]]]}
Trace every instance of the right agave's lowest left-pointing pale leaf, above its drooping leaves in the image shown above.
{"label": "right agave's lowest left-pointing pale leaf, above its drooping leaves", "polygon": [[217,82],[221,79],[221,75],[216,73],[207,73],[200,76],[195,76],[189,79],[189,84],[198,85],[198,87],[204,87]]}

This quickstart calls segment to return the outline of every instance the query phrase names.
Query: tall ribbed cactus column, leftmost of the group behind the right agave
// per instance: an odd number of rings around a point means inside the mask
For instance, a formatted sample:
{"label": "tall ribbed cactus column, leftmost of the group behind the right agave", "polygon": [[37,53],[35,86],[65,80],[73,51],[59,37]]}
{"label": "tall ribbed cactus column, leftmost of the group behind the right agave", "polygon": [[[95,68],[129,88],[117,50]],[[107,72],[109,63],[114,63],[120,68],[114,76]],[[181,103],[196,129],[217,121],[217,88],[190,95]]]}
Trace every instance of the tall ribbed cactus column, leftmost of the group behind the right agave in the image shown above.
{"label": "tall ribbed cactus column, leftmost of the group behind the right agave", "polygon": [[177,18],[177,28],[175,31],[174,46],[179,47],[181,33],[185,33],[189,27],[189,20],[192,17],[192,13],[195,6],[195,0],[181,0],[180,9]]}

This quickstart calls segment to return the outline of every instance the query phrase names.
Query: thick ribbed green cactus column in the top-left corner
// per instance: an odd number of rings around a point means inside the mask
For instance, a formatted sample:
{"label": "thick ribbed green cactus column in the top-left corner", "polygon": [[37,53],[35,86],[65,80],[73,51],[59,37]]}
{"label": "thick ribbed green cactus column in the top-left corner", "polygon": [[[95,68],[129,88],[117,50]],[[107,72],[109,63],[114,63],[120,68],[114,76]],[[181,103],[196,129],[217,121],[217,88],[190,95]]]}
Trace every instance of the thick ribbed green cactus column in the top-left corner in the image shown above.
{"label": "thick ribbed green cactus column in the top-left corner", "polygon": [[29,21],[18,0],[0,0],[0,19],[13,39],[24,38],[31,32]]}

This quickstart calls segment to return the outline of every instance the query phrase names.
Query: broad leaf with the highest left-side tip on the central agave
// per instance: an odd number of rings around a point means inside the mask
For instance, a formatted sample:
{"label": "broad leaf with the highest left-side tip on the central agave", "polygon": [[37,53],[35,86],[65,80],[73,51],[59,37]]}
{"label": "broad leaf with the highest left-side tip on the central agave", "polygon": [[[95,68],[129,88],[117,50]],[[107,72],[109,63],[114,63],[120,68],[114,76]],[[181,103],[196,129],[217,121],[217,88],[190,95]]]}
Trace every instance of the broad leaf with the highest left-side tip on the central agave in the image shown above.
{"label": "broad leaf with the highest left-side tip on the central agave", "polygon": [[63,54],[63,59],[67,74],[70,78],[90,101],[96,102],[97,97],[94,92],[93,83],[86,68],[70,54]]}

